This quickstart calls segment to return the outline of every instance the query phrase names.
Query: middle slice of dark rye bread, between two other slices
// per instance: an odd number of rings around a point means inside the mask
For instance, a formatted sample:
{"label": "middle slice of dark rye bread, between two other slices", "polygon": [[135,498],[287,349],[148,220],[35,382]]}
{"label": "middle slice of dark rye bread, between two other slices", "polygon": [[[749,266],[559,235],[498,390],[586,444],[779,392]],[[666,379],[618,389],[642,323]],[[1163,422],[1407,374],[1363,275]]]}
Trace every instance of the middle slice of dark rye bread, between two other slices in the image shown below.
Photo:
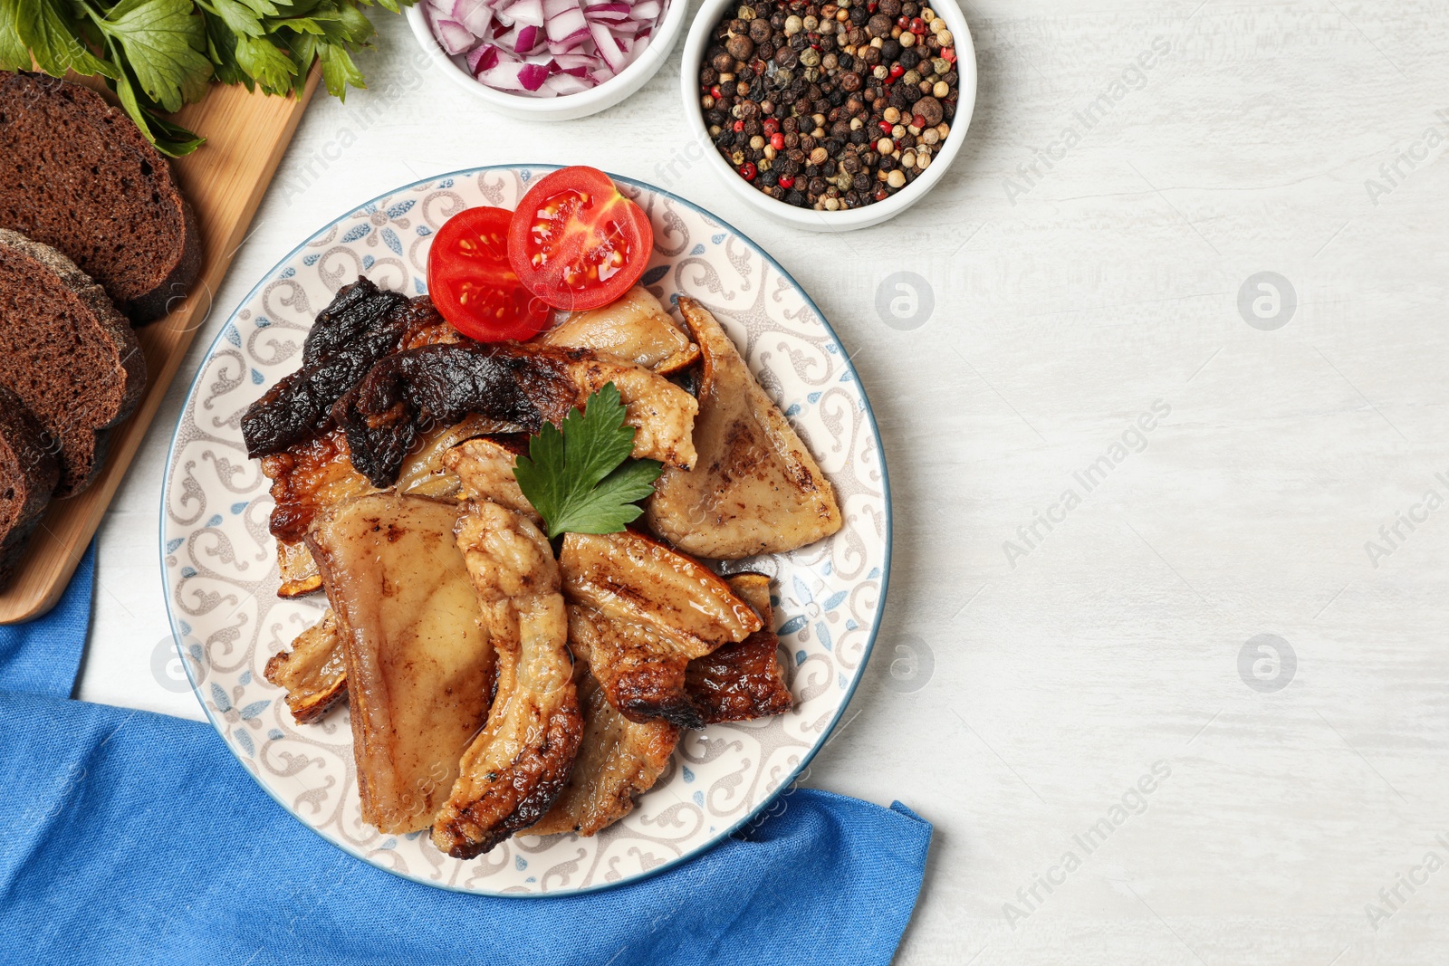
{"label": "middle slice of dark rye bread, between two other slices", "polygon": [[104,430],[136,408],[146,361],[136,333],[75,264],[0,229],[0,384],[57,440],[57,497],[84,490],[106,458]]}

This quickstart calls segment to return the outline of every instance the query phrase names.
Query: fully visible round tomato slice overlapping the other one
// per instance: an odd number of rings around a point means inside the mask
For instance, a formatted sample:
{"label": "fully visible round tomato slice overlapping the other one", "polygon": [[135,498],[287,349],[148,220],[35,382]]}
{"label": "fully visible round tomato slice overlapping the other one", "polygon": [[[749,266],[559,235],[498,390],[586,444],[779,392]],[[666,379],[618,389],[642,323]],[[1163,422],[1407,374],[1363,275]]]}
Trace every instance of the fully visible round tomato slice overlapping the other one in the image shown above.
{"label": "fully visible round tomato slice overlapping the other one", "polygon": [[555,308],[607,306],[643,275],[653,226],[597,168],[561,168],[529,188],[509,224],[509,259]]}

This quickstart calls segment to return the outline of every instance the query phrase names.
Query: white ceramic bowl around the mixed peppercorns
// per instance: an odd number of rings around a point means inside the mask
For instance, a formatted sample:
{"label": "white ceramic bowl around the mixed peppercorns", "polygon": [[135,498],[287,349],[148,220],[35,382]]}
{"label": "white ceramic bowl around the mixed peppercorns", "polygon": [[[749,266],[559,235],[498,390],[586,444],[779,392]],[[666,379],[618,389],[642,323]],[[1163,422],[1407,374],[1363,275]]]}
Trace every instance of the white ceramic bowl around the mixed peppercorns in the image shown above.
{"label": "white ceramic bowl around the mixed peppercorns", "polygon": [[704,61],[704,51],[709,46],[710,30],[719,22],[720,16],[723,16],[724,10],[738,4],[739,0],[704,0],[698,13],[694,14],[690,35],[684,39],[684,59],[680,65],[684,116],[694,129],[694,136],[698,138],[700,146],[704,148],[704,164],[724,180],[730,191],[758,209],[762,214],[784,224],[810,232],[852,232],[895,217],[936,187],[936,182],[946,174],[946,168],[955,161],[962,142],[966,139],[966,129],[971,126],[971,112],[977,103],[977,48],[971,42],[971,28],[966,26],[966,17],[961,13],[961,7],[955,4],[955,0],[927,0],[923,4],[935,10],[946,22],[946,28],[956,42],[956,74],[961,78],[961,98],[956,103],[956,116],[951,120],[951,136],[942,142],[940,151],[936,152],[924,174],[911,181],[910,185],[884,201],[875,201],[848,211],[816,211],[814,209],[797,209],[793,204],[775,201],[739,177],[739,172],[720,156],[714,148],[714,142],[710,140],[709,126],[704,123],[704,109],[700,106],[698,96],[700,65]]}

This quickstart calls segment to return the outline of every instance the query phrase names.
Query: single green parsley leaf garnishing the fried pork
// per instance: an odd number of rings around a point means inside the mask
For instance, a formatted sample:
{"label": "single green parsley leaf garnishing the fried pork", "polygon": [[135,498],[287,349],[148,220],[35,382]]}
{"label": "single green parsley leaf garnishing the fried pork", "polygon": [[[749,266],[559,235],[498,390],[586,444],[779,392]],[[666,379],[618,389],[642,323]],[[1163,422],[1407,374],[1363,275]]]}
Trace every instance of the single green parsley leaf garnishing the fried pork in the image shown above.
{"label": "single green parsley leaf garnishing the fried pork", "polygon": [[513,476],[549,537],[619,533],[643,513],[636,501],[653,492],[664,463],[629,459],[633,437],[619,387],[610,382],[588,397],[582,413],[564,417],[562,432],[545,423],[529,440],[529,455],[519,456]]}

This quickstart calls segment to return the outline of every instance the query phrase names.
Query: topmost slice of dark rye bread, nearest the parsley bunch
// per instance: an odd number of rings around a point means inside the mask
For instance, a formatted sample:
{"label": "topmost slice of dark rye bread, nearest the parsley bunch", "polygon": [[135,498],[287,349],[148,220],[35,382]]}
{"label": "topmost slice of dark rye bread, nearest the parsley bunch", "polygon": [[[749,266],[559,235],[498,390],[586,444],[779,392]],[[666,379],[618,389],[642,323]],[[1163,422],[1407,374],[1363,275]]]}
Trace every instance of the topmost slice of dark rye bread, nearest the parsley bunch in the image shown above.
{"label": "topmost slice of dark rye bread, nearest the parsley bunch", "polygon": [[104,97],[0,72],[0,227],[58,249],[132,322],[167,314],[201,268],[167,159]]}

